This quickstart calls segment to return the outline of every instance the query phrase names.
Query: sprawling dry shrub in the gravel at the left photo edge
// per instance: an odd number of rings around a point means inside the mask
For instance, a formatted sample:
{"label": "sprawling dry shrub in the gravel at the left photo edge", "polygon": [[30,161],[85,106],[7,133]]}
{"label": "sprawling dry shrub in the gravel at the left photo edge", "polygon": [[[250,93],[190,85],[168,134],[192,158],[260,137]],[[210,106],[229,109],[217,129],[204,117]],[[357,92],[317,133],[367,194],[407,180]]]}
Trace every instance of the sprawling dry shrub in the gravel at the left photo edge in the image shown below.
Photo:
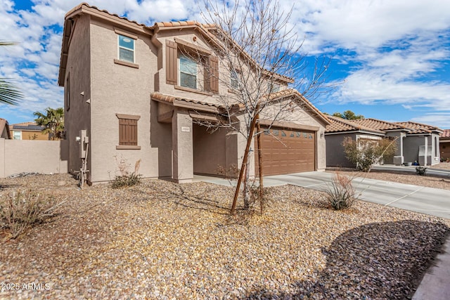
{"label": "sprawling dry shrub in the gravel at the left photo edge", "polygon": [[7,228],[12,238],[18,237],[28,228],[54,216],[56,208],[63,202],[31,190],[17,190],[0,199],[0,228]]}

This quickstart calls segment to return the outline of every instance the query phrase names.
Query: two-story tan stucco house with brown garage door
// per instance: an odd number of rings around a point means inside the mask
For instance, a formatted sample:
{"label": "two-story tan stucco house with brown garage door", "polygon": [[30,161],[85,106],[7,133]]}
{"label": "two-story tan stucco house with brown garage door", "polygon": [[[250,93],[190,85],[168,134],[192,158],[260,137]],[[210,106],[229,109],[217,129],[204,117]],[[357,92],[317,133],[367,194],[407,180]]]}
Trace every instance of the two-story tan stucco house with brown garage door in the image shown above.
{"label": "two-story tan stucco house with brown garage door", "polygon": [[[194,174],[218,176],[219,169],[240,167],[245,138],[200,125],[217,121],[221,99],[233,95],[218,80],[231,76],[214,53],[214,30],[192,21],[147,26],[85,3],[69,11],[58,79],[65,91],[69,170],[79,170],[86,157],[89,181],[110,181],[118,162],[133,171],[141,159],[144,177],[183,183]],[[200,52],[210,74],[186,72],[193,63],[186,51]],[[279,76],[278,91],[270,95],[292,102],[291,115],[272,124],[271,112],[263,114],[265,175],[326,168],[323,133],[329,121],[288,89],[292,82]],[[238,122],[243,126],[242,116]],[[255,169],[252,160],[251,175]]]}

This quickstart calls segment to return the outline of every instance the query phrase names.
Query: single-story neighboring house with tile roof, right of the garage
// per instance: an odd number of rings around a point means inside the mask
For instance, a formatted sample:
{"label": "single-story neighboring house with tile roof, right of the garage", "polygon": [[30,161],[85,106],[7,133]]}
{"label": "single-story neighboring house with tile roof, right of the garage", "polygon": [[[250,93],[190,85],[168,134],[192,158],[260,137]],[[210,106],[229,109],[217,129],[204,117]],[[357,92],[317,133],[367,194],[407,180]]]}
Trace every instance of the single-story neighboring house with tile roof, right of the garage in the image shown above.
{"label": "single-story neighboring house with tile roof, right of the garage", "polygon": [[[418,162],[420,165],[439,163],[439,133],[441,129],[415,122],[385,122],[378,119],[341,119],[328,116],[326,127],[326,159],[328,167],[354,167],[345,157],[342,141],[350,137],[359,140],[395,139],[397,150],[384,164]],[[426,147],[425,147],[426,145]]]}

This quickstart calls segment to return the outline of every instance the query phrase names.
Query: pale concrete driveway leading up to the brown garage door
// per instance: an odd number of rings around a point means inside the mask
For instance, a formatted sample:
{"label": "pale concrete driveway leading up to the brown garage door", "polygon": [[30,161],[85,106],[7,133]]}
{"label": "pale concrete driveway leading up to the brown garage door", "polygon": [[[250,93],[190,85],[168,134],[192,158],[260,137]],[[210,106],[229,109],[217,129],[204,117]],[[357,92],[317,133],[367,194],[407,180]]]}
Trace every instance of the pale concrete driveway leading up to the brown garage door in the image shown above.
{"label": "pale concrete driveway leading up to the brown garage door", "polygon": [[[331,173],[316,171],[266,176],[264,177],[264,186],[291,184],[315,190],[326,190],[332,177]],[[221,178],[196,176],[195,179],[221,185],[236,185],[236,181]],[[353,185],[357,195],[360,194],[359,199],[361,200],[450,219],[450,190],[369,178],[354,178]]]}

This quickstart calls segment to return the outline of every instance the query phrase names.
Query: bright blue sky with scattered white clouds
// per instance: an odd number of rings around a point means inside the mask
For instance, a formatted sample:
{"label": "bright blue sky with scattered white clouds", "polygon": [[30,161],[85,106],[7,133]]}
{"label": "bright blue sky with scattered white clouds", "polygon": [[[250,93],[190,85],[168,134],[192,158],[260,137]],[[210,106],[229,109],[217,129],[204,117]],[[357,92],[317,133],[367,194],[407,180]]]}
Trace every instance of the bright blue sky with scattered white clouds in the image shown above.
{"label": "bright blue sky with scattered white clouds", "polygon": [[[280,0],[286,9],[290,0]],[[77,0],[1,0],[0,77],[25,93],[19,106],[1,105],[10,124],[34,111],[63,106],[58,87],[64,15]],[[91,0],[89,4],[153,25],[200,20],[195,0]],[[333,58],[329,83],[337,88],[314,104],[323,112],[353,110],[387,121],[412,120],[450,129],[449,0],[299,0],[292,22],[303,51]],[[201,20],[200,20],[201,21]]]}

